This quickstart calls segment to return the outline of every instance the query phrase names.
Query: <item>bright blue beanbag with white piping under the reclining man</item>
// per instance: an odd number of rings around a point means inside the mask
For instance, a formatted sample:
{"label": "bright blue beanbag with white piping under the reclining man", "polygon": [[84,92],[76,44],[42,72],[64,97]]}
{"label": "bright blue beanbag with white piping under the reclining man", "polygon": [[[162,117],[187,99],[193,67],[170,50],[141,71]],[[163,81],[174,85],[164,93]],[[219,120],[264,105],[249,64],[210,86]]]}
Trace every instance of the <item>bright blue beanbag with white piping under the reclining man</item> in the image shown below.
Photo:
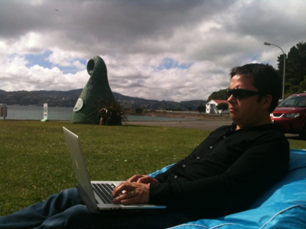
{"label": "bright blue beanbag with white piping under the reclining man", "polygon": [[[170,166],[150,176],[156,176]],[[218,219],[186,222],[171,228],[306,228],[306,150],[290,151],[289,174],[260,196],[249,210]]]}

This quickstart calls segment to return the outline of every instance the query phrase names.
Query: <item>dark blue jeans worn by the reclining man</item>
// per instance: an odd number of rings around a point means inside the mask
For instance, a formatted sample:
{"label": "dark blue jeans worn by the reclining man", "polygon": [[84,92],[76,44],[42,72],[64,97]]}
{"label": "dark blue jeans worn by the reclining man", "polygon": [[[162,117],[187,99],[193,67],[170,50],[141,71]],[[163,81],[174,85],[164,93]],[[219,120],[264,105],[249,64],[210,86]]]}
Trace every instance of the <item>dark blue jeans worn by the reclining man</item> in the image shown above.
{"label": "dark blue jeans worn by the reclining man", "polygon": [[78,188],[70,188],[50,196],[45,202],[32,205],[8,216],[0,217],[0,228],[167,228],[193,217],[166,211],[107,216],[91,214],[84,205]]}

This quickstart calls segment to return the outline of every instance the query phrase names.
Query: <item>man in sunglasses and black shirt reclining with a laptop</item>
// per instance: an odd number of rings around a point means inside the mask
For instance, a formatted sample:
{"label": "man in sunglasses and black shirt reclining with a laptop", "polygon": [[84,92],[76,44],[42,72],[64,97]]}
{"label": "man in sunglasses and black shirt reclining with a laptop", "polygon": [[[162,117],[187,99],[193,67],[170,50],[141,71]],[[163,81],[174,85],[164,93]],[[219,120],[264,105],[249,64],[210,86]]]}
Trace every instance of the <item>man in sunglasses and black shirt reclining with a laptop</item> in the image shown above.
{"label": "man in sunglasses and black shirt reclining with a laptop", "polygon": [[165,212],[93,215],[72,188],[1,217],[0,228],[166,228],[247,209],[288,171],[289,143],[270,121],[282,83],[275,69],[263,64],[236,67],[230,75],[232,126],[213,131],[165,173],[135,175],[113,191],[114,203],[163,204]]}

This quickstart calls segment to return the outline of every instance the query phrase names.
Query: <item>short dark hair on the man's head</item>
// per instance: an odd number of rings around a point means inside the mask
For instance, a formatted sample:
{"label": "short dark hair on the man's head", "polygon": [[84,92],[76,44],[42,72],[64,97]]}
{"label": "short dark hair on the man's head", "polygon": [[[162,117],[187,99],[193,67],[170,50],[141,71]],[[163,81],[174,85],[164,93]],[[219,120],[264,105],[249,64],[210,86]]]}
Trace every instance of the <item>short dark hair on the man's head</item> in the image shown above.
{"label": "short dark hair on the man's head", "polygon": [[262,96],[271,95],[270,112],[275,109],[282,92],[282,78],[271,65],[247,64],[241,67],[234,67],[231,69],[231,79],[234,75],[248,77],[252,80],[252,85],[261,93],[259,101]]}

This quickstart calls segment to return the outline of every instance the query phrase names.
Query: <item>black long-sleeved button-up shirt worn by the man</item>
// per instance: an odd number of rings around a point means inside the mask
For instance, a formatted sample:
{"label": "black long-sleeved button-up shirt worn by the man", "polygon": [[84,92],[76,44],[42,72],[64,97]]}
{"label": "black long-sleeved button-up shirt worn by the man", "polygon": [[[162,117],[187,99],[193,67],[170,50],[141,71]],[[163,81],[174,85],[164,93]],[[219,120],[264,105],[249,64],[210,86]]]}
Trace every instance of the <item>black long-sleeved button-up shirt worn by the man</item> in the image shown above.
{"label": "black long-sleeved button-up shirt worn by the man", "polygon": [[289,168],[289,142],[266,124],[213,131],[185,159],[156,176],[150,203],[200,217],[242,211]]}

